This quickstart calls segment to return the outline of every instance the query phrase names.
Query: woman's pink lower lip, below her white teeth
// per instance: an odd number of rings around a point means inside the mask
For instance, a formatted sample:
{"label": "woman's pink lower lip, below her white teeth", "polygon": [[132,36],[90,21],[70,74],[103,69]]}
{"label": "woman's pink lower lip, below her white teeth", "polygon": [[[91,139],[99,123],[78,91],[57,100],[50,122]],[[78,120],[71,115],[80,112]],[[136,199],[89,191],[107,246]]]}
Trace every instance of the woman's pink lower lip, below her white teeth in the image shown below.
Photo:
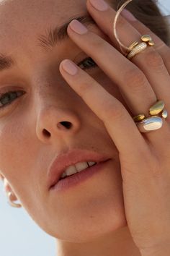
{"label": "woman's pink lower lip, below her white teeth", "polygon": [[91,178],[91,176],[93,176],[97,172],[102,171],[102,169],[107,165],[107,162],[109,160],[97,163],[94,166],[84,169],[84,171],[80,171],[79,173],[73,174],[72,176],[68,176],[66,179],[59,180],[58,183],[51,188],[51,190],[63,191],[65,189],[69,189],[70,187],[74,187],[77,184],[81,184],[81,182],[84,182],[86,179]]}

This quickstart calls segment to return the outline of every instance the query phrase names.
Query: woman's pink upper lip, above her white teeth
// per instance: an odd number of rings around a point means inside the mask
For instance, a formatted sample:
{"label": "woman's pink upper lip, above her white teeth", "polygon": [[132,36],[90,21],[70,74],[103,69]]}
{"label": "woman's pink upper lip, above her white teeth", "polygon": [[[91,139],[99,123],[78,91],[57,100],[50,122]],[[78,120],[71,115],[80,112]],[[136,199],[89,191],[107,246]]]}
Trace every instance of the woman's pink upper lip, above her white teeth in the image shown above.
{"label": "woman's pink upper lip, above her white teeth", "polygon": [[99,163],[107,160],[109,158],[106,155],[89,150],[72,149],[68,153],[62,153],[55,158],[48,169],[48,188],[50,189],[58,182],[61,174],[63,174],[63,171],[68,166],[75,165],[79,162],[93,161]]}

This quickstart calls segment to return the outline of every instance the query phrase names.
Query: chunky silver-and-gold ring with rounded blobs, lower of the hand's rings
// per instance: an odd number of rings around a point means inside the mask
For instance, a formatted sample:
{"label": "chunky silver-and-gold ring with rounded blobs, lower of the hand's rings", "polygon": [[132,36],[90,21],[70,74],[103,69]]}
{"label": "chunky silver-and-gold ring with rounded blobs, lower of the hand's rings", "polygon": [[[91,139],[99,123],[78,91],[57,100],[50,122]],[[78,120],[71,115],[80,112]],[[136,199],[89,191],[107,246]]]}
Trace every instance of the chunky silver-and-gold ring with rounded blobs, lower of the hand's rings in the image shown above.
{"label": "chunky silver-and-gold ring with rounded blobs, lower of the hand's rings", "polygon": [[[166,119],[168,116],[168,112],[164,109],[164,106],[164,101],[156,101],[156,103],[149,108],[148,113],[150,116],[146,117],[144,114],[138,114],[138,116],[133,117],[140,132],[150,132],[162,127],[162,118]],[[161,117],[158,115],[161,115]]]}

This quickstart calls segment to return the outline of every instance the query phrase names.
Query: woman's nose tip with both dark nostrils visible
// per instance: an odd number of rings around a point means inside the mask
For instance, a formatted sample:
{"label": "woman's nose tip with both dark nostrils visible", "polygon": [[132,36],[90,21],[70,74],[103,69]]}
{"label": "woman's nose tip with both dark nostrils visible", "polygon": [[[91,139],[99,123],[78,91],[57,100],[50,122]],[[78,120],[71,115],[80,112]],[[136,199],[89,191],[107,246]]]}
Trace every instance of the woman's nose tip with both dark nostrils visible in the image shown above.
{"label": "woman's nose tip with both dark nostrils visible", "polygon": [[39,140],[67,140],[79,132],[81,120],[76,111],[57,106],[46,106],[37,116],[36,133]]}

